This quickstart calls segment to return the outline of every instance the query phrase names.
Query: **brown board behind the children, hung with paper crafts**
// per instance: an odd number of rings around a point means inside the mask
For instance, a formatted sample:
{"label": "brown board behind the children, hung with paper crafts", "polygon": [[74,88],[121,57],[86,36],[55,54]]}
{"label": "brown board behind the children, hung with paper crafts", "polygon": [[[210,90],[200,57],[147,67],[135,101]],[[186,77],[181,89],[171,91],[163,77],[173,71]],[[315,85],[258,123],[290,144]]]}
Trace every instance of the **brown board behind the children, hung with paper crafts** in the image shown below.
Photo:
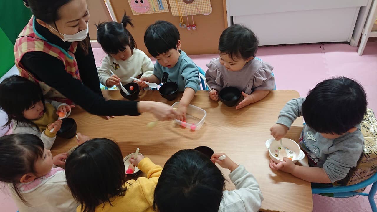
{"label": "brown board behind the children, hung with paper crafts", "polygon": [[[195,1],[197,0],[194,0],[193,3],[195,3]],[[198,2],[199,1],[201,0],[198,0]],[[166,20],[177,26],[181,35],[181,49],[189,55],[197,55],[218,53],[219,37],[228,24],[225,23],[227,20],[225,0],[207,1],[210,2],[211,5],[211,13],[193,15],[196,25],[195,31],[180,28],[179,17],[173,16],[171,12],[134,15],[128,1],[110,0],[110,3],[118,22],[122,19],[124,12],[130,15],[135,27],[129,27],[127,29],[129,29],[133,38],[135,38],[137,48],[144,51],[147,55],[149,55],[149,53],[144,45],[144,33],[146,28],[156,20]],[[167,0],[169,11],[172,11],[170,6],[174,2],[175,0]],[[186,17],[184,17],[184,22],[187,22]]]}

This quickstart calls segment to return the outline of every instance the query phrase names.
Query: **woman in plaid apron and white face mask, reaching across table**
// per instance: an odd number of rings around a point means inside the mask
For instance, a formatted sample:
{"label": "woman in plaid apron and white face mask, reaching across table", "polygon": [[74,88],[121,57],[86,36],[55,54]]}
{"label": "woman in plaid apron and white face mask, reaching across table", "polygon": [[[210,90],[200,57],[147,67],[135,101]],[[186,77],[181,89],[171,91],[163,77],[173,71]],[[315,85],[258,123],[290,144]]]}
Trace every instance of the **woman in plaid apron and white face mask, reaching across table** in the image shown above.
{"label": "woman in plaid apron and white face mask, reaching across table", "polygon": [[176,112],[154,101],[103,98],[90,46],[86,0],[28,0],[33,17],[14,46],[20,75],[38,82],[46,98],[74,102],[91,114],[139,115],[152,112],[170,120]]}

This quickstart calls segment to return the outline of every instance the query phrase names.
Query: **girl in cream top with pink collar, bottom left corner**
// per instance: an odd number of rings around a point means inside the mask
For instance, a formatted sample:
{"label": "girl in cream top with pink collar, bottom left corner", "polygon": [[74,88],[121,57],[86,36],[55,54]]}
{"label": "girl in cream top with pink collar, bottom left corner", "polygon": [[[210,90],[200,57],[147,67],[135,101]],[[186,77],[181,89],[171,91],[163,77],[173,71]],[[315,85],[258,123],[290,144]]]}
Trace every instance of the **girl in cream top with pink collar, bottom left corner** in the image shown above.
{"label": "girl in cream top with pink collar, bottom left corner", "polygon": [[0,181],[9,185],[19,212],[75,211],[79,203],[67,188],[64,169],[54,166],[64,165],[65,158],[67,152],[52,157],[36,135],[0,138]]}

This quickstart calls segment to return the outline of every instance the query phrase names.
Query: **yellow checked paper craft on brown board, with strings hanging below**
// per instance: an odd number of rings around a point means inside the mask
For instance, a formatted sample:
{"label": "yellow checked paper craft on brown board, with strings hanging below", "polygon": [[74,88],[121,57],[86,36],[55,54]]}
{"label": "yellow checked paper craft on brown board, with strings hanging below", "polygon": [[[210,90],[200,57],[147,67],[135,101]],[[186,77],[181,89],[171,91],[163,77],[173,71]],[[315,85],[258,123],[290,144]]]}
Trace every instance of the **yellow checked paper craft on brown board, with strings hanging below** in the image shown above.
{"label": "yellow checked paper craft on brown board, with strings hanging below", "polygon": [[210,0],[169,0],[169,3],[175,17],[209,15],[212,12]]}

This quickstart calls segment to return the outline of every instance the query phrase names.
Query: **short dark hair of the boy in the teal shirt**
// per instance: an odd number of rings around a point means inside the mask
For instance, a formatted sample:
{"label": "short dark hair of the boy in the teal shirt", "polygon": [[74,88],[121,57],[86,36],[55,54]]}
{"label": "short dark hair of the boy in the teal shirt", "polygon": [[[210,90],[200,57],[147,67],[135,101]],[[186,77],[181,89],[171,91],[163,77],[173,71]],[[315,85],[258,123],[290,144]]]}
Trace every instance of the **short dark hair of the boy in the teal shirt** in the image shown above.
{"label": "short dark hair of the boy in the teal shirt", "polygon": [[153,57],[177,49],[179,39],[178,29],[167,21],[156,21],[148,26],[144,34],[144,43]]}

